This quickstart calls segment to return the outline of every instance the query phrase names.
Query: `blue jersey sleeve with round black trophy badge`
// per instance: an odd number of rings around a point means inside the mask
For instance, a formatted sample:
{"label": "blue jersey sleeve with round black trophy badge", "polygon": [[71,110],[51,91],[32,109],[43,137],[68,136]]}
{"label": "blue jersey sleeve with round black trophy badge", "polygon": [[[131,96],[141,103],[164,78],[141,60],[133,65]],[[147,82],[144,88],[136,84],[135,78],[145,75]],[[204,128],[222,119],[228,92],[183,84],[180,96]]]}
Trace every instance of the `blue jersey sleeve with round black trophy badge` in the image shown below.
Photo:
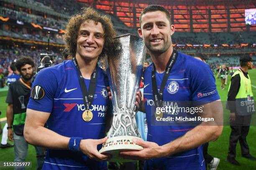
{"label": "blue jersey sleeve with round black trophy badge", "polygon": [[40,70],[33,82],[27,108],[50,113],[57,88],[54,70],[50,67]]}

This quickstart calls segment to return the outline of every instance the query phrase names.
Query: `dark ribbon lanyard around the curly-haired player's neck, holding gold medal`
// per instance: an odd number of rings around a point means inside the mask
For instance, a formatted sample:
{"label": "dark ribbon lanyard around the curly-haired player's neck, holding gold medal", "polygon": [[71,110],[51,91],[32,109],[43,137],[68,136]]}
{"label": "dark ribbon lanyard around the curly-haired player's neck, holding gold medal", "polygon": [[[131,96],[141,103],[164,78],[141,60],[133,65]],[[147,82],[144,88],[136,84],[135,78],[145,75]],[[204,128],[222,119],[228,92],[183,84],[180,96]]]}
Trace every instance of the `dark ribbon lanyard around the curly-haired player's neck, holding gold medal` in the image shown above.
{"label": "dark ribbon lanyard around the curly-haired player's neck, holding gold medal", "polygon": [[78,73],[79,73],[79,83],[80,87],[82,89],[82,95],[84,99],[84,106],[86,107],[86,110],[90,110],[90,106],[94,99],[94,92],[96,88],[96,82],[97,82],[97,74],[98,74],[98,65],[96,64],[96,67],[91,75],[90,85],[89,85],[89,91],[87,91],[86,84],[84,82],[84,77],[82,76],[82,73],[79,69],[79,65],[77,63],[77,59],[75,57],[72,58],[72,61],[74,65],[77,67]]}

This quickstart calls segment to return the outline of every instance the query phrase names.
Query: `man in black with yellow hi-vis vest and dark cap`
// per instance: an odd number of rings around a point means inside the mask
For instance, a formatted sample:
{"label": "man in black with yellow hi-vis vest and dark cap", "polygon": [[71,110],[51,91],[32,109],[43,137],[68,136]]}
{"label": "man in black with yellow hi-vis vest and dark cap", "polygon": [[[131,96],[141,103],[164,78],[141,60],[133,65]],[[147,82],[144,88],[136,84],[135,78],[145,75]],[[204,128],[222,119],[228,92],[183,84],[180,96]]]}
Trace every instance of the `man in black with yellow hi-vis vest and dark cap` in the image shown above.
{"label": "man in black with yellow hi-vis vest and dark cap", "polygon": [[[246,136],[250,128],[251,114],[255,112],[254,109],[248,110],[247,108],[248,103],[254,105],[251,80],[248,75],[248,70],[251,70],[253,67],[252,58],[248,55],[242,56],[240,58],[240,65],[241,68],[231,77],[227,103],[227,108],[230,110],[231,128],[227,161],[233,165],[240,165],[235,159],[238,140],[241,145],[242,157],[256,160],[256,158],[249,153],[249,146],[246,141]],[[242,105],[244,102],[246,102],[246,104]]]}

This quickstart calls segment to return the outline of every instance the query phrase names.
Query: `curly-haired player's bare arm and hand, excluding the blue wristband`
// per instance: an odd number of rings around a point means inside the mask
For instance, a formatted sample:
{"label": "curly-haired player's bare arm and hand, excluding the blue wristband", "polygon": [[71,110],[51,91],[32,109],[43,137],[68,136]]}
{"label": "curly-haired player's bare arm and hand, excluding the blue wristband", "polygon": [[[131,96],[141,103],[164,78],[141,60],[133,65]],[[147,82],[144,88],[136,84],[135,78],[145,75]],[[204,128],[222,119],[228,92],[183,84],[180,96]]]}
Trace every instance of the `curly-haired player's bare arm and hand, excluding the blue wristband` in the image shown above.
{"label": "curly-haired player's bare arm and hand, excluding the blue wristband", "polygon": [[[50,149],[69,149],[70,138],[59,135],[44,127],[50,113],[27,109],[24,137],[32,145]],[[80,142],[80,151],[95,160],[107,160],[109,155],[100,154],[97,145],[104,143],[107,138],[92,140],[84,139]]]}

